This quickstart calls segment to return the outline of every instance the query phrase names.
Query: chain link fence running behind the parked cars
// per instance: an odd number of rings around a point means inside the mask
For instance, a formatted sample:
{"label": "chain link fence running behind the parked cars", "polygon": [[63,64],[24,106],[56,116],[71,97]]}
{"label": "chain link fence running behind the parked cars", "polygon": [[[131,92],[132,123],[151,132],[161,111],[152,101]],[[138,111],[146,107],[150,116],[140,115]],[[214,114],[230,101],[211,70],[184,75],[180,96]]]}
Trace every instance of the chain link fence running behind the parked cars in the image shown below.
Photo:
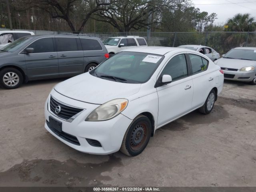
{"label": "chain link fence running behind the parked cars", "polygon": [[[36,35],[72,33],[70,31],[29,31],[34,32]],[[83,34],[98,37],[102,41],[113,36],[140,36],[146,39],[148,46],[177,47],[186,44],[204,45],[213,48],[220,54],[225,54],[235,47],[256,47],[256,32],[111,32]]]}

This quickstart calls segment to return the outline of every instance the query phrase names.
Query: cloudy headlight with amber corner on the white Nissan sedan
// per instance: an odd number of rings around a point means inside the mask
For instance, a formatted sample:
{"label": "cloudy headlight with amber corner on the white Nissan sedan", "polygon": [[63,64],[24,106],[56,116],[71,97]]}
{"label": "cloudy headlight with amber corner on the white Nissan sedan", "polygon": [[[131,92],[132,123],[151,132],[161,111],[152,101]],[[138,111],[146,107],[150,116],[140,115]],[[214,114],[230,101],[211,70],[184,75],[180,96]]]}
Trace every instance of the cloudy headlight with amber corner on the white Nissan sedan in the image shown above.
{"label": "cloudy headlight with amber corner on the white Nissan sedan", "polygon": [[104,121],[114,118],[126,108],[127,104],[127,99],[114,99],[106,102],[91,112],[86,121]]}

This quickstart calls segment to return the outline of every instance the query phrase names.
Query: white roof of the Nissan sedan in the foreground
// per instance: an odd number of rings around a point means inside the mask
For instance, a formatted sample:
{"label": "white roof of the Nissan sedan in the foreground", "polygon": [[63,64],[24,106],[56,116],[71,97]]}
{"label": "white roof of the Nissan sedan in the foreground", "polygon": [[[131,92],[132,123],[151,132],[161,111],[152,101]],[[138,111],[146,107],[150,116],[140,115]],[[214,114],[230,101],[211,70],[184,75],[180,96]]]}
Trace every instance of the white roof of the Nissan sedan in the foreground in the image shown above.
{"label": "white roof of the Nissan sedan in the foreground", "polygon": [[122,50],[124,52],[130,51],[130,52],[142,52],[142,53],[150,53],[150,54],[158,54],[158,55],[165,55],[168,52],[195,52],[193,50],[188,50],[185,48],[178,48],[178,47],[160,47],[160,46],[149,46],[149,47],[140,47],[140,48],[129,48]]}

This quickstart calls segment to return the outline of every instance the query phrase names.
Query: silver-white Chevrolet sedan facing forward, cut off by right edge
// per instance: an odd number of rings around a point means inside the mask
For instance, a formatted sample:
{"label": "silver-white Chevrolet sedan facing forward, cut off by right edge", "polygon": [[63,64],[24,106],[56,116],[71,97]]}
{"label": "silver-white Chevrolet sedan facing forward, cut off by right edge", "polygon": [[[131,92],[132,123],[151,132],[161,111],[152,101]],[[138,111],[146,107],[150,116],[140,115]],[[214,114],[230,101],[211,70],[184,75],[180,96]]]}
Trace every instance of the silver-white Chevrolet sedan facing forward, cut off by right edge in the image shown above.
{"label": "silver-white Chevrolet sedan facing forward, cut off by right edge", "polygon": [[237,47],[215,61],[224,71],[224,79],[256,85],[256,47]]}

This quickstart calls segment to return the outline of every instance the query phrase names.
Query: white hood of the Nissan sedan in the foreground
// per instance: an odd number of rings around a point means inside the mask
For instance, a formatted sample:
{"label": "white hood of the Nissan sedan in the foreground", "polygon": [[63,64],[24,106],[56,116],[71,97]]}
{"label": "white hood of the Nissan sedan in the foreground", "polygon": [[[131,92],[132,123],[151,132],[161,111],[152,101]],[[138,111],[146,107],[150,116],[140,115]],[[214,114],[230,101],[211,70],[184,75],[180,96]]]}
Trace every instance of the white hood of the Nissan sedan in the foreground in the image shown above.
{"label": "white hood of the Nissan sedan in the foreground", "polygon": [[103,104],[116,98],[127,98],[140,90],[141,84],[101,79],[84,73],[57,84],[54,89],[69,98],[92,104]]}

